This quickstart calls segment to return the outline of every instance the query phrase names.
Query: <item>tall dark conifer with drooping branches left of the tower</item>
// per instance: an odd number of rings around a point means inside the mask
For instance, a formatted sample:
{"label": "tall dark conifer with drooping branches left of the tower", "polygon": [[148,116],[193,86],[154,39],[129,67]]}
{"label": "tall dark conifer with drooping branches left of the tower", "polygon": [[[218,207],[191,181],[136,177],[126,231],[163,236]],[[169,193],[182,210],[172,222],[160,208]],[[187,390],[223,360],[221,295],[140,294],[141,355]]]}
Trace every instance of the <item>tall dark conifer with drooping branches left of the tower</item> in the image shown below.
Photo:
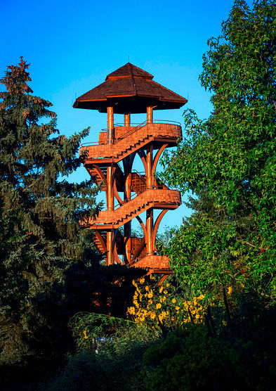
{"label": "tall dark conifer with drooping branches left of the tower", "polygon": [[[21,58],[1,79],[6,87],[0,93],[0,361],[4,364],[41,357],[46,345],[58,340],[76,301],[76,295],[66,291],[67,279],[74,279],[71,285],[81,284],[97,259],[91,234],[79,226],[80,219],[99,209],[97,188],[91,181],[60,180],[83,162],[76,153],[89,129],[68,138],[59,134],[51,103],[32,94],[28,67]],[[68,300],[70,309],[68,303],[65,306]]]}

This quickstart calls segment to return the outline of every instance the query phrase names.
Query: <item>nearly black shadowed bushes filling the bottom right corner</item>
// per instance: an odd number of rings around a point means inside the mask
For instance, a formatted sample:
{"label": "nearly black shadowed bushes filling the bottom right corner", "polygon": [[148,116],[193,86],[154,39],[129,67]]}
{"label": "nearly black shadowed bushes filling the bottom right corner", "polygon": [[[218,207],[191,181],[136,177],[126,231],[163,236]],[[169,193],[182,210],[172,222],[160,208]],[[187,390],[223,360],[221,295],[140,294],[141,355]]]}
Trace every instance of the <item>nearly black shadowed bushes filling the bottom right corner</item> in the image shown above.
{"label": "nearly black shadowed bushes filling the bottom right corner", "polygon": [[226,326],[212,308],[216,335],[191,323],[169,333],[144,354],[147,390],[275,390],[275,314],[243,294]]}

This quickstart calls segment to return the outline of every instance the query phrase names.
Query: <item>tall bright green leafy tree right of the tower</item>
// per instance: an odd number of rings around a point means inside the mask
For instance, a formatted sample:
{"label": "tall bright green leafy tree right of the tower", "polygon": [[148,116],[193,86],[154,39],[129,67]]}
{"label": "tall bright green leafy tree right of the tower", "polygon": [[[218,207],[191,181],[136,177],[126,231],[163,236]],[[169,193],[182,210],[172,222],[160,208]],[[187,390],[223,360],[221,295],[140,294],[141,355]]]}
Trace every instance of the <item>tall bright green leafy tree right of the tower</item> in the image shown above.
{"label": "tall bright green leafy tree right of the tower", "polygon": [[242,283],[246,271],[248,285],[275,297],[275,42],[275,0],[252,9],[236,0],[203,56],[213,113],[203,121],[186,110],[187,136],[163,158],[163,179],[201,203],[169,246],[173,267],[183,279],[196,275],[197,288],[215,277]]}

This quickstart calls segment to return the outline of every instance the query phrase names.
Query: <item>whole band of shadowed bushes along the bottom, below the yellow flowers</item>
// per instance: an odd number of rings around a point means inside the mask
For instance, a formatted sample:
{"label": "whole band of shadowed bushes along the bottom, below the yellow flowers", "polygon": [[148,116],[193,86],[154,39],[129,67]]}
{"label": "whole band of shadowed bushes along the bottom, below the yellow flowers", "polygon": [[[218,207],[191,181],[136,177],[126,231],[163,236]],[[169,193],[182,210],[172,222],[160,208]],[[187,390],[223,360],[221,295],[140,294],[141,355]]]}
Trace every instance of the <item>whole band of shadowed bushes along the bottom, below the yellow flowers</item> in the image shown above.
{"label": "whole band of shadowed bushes along the bottom, below the yellow flowers", "polygon": [[203,323],[159,329],[150,319],[79,314],[71,323],[76,354],[39,390],[274,390],[276,309],[254,293],[236,300],[230,313],[227,301]]}

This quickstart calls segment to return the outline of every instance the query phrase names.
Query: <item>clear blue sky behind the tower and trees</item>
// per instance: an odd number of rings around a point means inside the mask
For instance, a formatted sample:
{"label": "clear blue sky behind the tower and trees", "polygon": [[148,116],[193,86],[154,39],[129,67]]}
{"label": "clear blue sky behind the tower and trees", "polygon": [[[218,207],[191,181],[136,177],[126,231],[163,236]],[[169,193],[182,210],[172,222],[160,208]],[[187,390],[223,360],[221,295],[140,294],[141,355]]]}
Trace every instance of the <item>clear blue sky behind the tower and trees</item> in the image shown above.
{"label": "clear blue sky behind the tower and trees", "polygon": [[[188,98],[186,107],[206,118],[211,104],[198,81],[202,54],[207,40],[220,34],[232,5],[232,0],[0,0],[0,75],[23,56],[31,64],[34,94],[53,103],[60,133],[69,136],[91,126],[86,142],[98,140],[107,118],[98,111],[73,109],[74,98],[129,60]],[[155,118],[181,122],[182,113],[159,111]],[[120,116],[115,120],[121,122]],[[132,120],[145,118],[133,115]],[[86,177],[82,168],[73,179]],[[162,227],[180,224],[188,214],[184,205],[168,212]]]}

